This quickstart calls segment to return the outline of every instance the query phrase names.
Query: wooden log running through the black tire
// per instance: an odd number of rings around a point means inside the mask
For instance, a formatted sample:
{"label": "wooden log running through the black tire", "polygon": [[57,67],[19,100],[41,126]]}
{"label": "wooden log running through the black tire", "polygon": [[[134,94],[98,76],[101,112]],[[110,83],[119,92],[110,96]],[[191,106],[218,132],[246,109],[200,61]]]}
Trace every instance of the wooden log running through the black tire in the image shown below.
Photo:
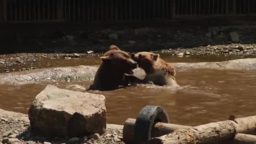
{"label": "wooden log running through the black tire", "polygon": [[[125,143],[132,143],[135,139],[134,128],[136,119],[128,118],[123,126],[123,141]],[[175,130],[182,128],[192,128],[186,125],[175,125],[171,123],[156,123],[151,131],[151,137],[163,136],[168,133],[172,133]]]}

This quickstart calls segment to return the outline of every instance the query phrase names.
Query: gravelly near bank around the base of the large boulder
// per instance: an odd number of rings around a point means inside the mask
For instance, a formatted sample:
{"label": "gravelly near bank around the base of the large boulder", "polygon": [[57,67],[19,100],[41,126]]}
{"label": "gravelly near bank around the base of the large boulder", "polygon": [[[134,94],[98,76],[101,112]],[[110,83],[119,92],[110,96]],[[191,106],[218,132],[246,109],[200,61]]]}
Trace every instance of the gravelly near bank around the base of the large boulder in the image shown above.
{"label": "gravelly near bank around the base of the large boulder", "polygon": [[[8,137],[9,141],[17,144],[65,144],[71,139],[69,137],[50,138],[40,136],[30,131],[28,115],[0,109],[0,143],[4,137]],[[100,136],[99,139],[89,139],[82,142],[82,144],[123,144],[123,141],[120,140],[122,137],[123,125],[107,124],[106,133]],[[80,137],[79,141],[83,141],[83,139],[83,137]]]}

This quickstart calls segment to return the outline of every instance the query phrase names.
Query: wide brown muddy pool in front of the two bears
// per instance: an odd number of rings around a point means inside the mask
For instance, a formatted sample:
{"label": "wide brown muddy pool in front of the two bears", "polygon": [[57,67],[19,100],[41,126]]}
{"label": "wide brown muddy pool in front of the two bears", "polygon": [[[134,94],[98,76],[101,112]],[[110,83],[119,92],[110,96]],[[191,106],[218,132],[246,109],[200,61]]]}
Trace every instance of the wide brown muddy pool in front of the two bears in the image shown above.
{"label": "wide brown muddy pool in front of the two bears", "polygon": [[[108,123],[123,124],[135,118],[148,105],[164,107],[171,123],[200,125],[237,117],[256,115],[256,72],[213,69],[182,69],[177,72],[180,90],[139,85],[108,92],[106,96]],[[68,85],[89,85],[92,82],[51,83],[59,88]],[[0,108],[27,114],[35,96],[46,83],[0,85]]]}

